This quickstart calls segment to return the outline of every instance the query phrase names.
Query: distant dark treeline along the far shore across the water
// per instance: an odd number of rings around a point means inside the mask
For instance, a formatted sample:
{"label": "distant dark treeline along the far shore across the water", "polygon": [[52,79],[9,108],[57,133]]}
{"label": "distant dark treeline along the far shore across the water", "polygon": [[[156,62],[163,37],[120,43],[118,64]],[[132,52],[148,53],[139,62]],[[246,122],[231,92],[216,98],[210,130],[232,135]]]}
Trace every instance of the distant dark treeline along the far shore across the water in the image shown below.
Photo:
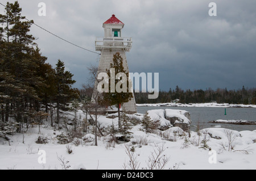
{"label": "distant dark treeline along the far shore across the water", "polygon": [[175,90],[170,88],[169,91],[159,91],[157,99],[148,99],[148,92],[135,92],[137,104],[143,103],[170,103],[172,100],[179,99],[179,103],[229,103],[229,104],[256,104],[256,88],[238,90],[227,90],[218,88],[212,90],[182,90],[176,86]]}

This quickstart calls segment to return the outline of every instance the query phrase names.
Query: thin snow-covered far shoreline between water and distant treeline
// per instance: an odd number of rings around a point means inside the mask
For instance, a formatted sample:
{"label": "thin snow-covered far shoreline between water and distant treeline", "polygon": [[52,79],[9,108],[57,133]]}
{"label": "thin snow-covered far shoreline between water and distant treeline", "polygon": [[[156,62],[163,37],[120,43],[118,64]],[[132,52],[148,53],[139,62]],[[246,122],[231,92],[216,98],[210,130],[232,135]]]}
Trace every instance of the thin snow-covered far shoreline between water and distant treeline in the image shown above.
{"label": "thin snow-covered far shoreline between water and distant treeline", "polygon": [[157,104],[136,104],[137,106],[170,106],[170,107],[251,107],[256,108],[255,104],[228,104],[228,103],[157,103]]}

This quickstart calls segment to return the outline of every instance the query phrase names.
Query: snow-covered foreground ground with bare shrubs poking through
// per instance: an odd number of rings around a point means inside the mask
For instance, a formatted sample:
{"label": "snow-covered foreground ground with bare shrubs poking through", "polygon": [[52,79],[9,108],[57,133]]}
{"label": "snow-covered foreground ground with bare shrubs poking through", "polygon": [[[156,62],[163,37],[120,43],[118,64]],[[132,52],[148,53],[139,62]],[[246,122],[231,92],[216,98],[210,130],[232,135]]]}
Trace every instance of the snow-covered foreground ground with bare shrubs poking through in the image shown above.
{"label": "snow-covered foreground ground with bare shrubs poking through", "polygon": [[[143,115],[130,116],[141,119]],[[100,128],[113,125],[112,121],[114,125],[118,124],[117,118],[100,116],[98,119]],[[61,170],[65,165],[66,169],[122,170],[130,161],[125,146],[133,146],[139,169],[147,169],[148,159],[160,146],[164,146],[164,157],[169,158],[164,169],[256,169],[256,130],[238,132],[207,128],[200,131],[200,136],[191,132],[188,137],[188,133],[178,127],[146,133],[141,124],[137,124],[131,129],[133,138],[130,142],[113,144],[108,142],[109,136],[99,136],[98,146],[93,146],[93,134],[87,134],[85,137],[91,140],[87,139],[79,146],[58,144],[57,135],[61,132],[64,129],[54,131],[43,125],[39,134],[38,125],[34,125],[24,134],[9,136],[9,141],[0,138],[0,169]],[[48,143],[36,144],[38,136],[47,138]],[[72,146],[71,154],[67,152],[67,145]]]}

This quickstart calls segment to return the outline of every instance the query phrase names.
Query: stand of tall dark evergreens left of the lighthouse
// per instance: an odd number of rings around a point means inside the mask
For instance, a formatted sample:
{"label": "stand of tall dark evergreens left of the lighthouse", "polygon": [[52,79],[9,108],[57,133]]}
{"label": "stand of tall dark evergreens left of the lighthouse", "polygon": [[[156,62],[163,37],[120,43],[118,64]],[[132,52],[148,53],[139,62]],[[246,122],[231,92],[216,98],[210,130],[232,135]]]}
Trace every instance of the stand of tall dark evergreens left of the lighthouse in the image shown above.
{"label": "stand of tall dark evergreens left of the lighthouse", "polygon": [[[5,13],[0,14],[0,117],[1,121],[11,118],[29,124],[34,120],[52,117],[77,98],[73,74],[65,71],[64,62],[56,60],[55,67],[46,63],[35,37],[30,35],[34,23],[21,14],[19,3],[7,2]],[[54,106],[53,106],[54,105]],[[53,125],[53,120],[51,120]]]}

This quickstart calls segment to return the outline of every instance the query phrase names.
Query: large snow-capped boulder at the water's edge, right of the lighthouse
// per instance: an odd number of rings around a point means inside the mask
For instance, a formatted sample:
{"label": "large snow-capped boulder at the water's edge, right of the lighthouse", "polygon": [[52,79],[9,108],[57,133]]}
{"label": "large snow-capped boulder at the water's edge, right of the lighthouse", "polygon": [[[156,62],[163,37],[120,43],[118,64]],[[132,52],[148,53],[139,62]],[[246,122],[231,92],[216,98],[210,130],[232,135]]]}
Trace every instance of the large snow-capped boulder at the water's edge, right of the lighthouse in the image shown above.
{"label": "large snow-capped boulder at the water's edge, right of the lighthouse", "polygon": [[170,121],[174,127],[180,127],[185,132],[189,132],[191,125],[191,117],[188,111],[184,110],[165,110],[166,119]]}

